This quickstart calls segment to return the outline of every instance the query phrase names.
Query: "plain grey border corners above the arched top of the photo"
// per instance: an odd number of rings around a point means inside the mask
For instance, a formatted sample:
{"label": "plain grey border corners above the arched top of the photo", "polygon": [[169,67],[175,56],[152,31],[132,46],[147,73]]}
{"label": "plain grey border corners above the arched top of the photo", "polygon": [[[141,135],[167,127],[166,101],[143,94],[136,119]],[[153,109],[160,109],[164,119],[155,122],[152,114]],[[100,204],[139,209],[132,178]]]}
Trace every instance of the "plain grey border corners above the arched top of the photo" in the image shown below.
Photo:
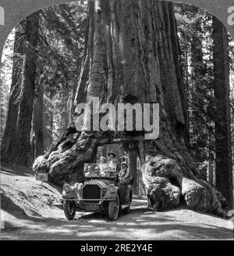
{"label": "plain grey border corners above the arched top of the photo", "polygon": [[[80,1],[80,0],[76,0]],[[90,0],[98,1],[98,0]],[[227,31],[234,38],[234,0],[163,0],[168,2],[180,2],[190,4],[204,9],[208,13],[216,16]],[[25,19],[30,14],[39,9],[47,8],[48,6],[59,5],[64,3],[74,2],[74,0],[1,0],[0,7],[4,13],[4,24],[0,25],[0,56],[2,59],[2,50],[5,45],[5,40],[16,24]],[[0,64],[1,65],[1,64]]]}

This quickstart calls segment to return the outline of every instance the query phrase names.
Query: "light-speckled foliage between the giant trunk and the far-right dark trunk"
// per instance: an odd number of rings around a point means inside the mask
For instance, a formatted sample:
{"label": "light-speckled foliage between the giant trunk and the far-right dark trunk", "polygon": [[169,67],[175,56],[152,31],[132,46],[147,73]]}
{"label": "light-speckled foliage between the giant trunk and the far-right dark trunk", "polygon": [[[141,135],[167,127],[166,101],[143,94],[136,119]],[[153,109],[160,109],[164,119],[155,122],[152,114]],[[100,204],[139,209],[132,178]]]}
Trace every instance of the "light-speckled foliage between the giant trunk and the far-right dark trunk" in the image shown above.
{"label": "light-speckled foliage between the giant trunk and the far-right dark trunk", "polygon": [[213,160],[215,151],[211,16],[190,5],[177,5],[176,20],[190,115],[191,150],[203,163]]}

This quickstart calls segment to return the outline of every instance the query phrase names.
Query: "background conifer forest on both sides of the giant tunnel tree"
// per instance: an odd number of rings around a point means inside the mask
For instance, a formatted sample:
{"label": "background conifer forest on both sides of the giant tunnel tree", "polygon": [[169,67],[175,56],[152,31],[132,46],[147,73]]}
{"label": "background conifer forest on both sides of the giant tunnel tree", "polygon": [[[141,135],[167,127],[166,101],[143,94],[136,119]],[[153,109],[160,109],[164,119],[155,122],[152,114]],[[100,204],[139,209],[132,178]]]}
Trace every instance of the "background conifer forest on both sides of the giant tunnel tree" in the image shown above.
{"label": "background conifer forest on both sides of the giant tunnel tree", "polygon": [[[200,168],[207,171],[209,181],[215,183],[215,121],[218,117],[213,84],[214,18],[204,10],[179,4],[175,5],[175,15],[183,84],[188,100],[190,127],[187,145],[190,145],[190,153],[200,164]],[[2,56],[0,82],[2,140],[10,111],[9,101],[12,100],[12,105],[23,106],[24,100],[29,100],[21,82],[25,61],[23,52],[25,49],[34,51],[34,58],[37,60],[35,70],[32,70],[35,76],[33,114],[32,120],[29,120],[30,136],[27,135],[30,153],[24,154],[24,159],[11,159],[2,155],[5,162],[22,165],[32,164],[35,158],[44,154],[60,138],[72,119],[87,37],[87,2],[50,7],[34,13],[32,19],[37,31],[34,40],[27,40],[28,20],[23,20],[9,34]],[[229,51],[230,102],[227,106],[231,113],[234,163],[234,43],[230,37],[225,50]],[[22,119],[23,129],[23,125],[27,123],[27,114],[22,114]],[[10,125],[13,126],[13,121]]]}

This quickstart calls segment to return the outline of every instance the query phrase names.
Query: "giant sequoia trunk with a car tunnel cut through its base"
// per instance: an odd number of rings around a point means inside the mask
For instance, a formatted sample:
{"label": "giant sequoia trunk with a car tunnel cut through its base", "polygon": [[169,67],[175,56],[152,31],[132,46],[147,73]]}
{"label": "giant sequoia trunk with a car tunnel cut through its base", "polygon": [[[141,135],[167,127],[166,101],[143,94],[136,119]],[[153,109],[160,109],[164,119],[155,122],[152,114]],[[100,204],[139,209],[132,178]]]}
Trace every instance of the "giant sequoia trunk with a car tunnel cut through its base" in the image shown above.
{"label": "giant sequoia trunk with a car tunnel cut through its base", "polygon": [[[76,104],[159,103],[160,135],[144,140],[141,132],[80,132],[70,126],[34,171],[48,171],[51,182],[81,181],[83,163],[95,159],[99,142],[116,133],[137,141],[148,202],[158,210],[189,207],[222,213],[215,188],[186,148],[186,97],[179,66],[173,5],[157,0],[89,2],[86,56]],[[74,121],[78,118],[74,115]],[[84,123],[86,119],[84,118]]]}

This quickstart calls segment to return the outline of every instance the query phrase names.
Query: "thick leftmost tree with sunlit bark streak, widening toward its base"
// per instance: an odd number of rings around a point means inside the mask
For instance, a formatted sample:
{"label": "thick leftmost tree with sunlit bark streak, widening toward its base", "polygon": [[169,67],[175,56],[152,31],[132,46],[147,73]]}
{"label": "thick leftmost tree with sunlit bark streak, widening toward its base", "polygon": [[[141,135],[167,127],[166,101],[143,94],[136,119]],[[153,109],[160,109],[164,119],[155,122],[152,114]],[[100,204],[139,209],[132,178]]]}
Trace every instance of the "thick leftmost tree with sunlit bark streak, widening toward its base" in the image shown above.
{"label": "thick leftmost tree with sunlit bark streak, widening toward its base", "polygon": [[[23,20],[16,30],[15,58],[9,113],[2,139],[2,161],[30,164],[30,130],[37,73],[39,13]],[[17,54],[17,56],[16,56]]]}

